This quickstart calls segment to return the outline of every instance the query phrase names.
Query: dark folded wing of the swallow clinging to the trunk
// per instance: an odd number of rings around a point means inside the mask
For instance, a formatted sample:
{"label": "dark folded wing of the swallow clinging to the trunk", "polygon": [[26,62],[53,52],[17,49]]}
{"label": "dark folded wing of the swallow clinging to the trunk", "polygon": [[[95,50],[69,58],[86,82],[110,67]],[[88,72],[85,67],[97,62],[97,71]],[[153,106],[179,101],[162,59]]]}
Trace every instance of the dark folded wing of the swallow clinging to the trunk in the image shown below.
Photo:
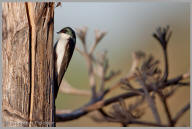
{"label": "dark folded wing of the swallow clinging to the trunk", "polygon": [[73,55],[74,48],[75,48],[75,42],[73,42],[73,40],[70,38],[69,42],[66,45],[63,61],[61,63],[61,68],[57,77],[58,86],[60,86],[63,76],[67,70],[69,62]]}

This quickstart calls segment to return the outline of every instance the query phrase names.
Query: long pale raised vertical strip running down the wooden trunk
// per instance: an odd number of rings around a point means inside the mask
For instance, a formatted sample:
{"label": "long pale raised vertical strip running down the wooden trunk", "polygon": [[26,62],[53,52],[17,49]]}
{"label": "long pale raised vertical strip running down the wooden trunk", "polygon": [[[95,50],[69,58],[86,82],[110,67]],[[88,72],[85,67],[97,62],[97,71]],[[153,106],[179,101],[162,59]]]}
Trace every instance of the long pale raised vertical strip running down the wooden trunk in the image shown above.
{"label": "long pale raised vertical strip running down the wooden trunk", "polygon": [[35,44],[36,44],[36,26],[35,26],[35,10],[32,2],[25,3],[27,18],[29,23],[29,51],[30,51],[30,103],[29,103],[29,126],[32,125],[32,114],[34,104],[34,85],[35,85]]}

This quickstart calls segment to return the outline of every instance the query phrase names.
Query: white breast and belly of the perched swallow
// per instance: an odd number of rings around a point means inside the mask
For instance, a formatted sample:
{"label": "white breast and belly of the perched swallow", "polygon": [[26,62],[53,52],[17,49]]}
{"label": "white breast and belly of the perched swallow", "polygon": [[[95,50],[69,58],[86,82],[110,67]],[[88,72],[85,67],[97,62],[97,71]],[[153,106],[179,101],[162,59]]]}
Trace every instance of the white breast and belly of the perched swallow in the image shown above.
{"label": "white breast and belly of the perched swallow", "polygon": [[65,47],[67,45],[68,39],[60,38],[56,47],[56,53],[57,53],[57,73],[59,74],[59,71],[61,69],[61,63],[63,60],[63,56],[65,53]]}

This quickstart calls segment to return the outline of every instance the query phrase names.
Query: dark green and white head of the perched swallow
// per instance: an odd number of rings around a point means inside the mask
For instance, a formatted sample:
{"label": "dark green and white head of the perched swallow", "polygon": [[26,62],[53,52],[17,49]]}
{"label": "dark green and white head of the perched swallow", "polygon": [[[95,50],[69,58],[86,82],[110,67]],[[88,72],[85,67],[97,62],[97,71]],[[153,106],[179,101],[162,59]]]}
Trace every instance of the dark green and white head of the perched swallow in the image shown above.
{"label": "dark green and white head of the perched swallow", "polygon": [[57,34],[60,34],[61,38],[65,38],[65,39],[71,38],[74,40],[74,42],[76,40],[75,31],[70,27],[65,27],[61,29],[59,32],[57,32]]}

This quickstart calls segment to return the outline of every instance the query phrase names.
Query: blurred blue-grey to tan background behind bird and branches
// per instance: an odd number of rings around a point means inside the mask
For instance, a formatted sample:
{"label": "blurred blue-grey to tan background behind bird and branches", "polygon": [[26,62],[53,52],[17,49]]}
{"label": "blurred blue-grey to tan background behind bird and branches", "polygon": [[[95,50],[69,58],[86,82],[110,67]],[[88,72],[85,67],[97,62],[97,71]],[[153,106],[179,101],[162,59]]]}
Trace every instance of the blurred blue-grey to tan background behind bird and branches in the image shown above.
{"label": "blurred blue-grey to tan background behind bird and branches", "polygon": [[[129,71],[132,59],[131,53],[142,50],[153,54],[161,61],[163,54],[160,45],[152,37],[157,27],[170,25],[173,31],[168,45],[168,59],[170,78],[190,70],[190,5],[174,2],[64,2],[62,7],[55,9],[55,41],[56,32],[63,27],[88,27],[87,43],[90,46],[94,41],[94,30],[106,31],[107,35],[96,48],[96,53],[107,50],[110,69],[121,70],[119,77]],[[77,46],[81,47],[79,39]],[[74,52],[65,79],[74,87],[89,89],[87,68],[84,58]],[[115,78],[113,84],[119,78]],[[112,96],[120,91],[113,92]],[[77,109],[88,102],[90,97],[59,93],[56,100],[57,109]],[[180,88],[169,99],[171,114],[181,109],[190,101],[190,87]],[[157,103],[161,117],[166,118],[160,103]],[[150,110],[146,110],[142,119],[154,121]],[[162,119],[166,122],[166,119]],[[190,125],[188,111],[178,122],[178,126]],[[78,120],[57,123],[57,126],[120,126],[116,123],[96,123],[89,115]]]}

